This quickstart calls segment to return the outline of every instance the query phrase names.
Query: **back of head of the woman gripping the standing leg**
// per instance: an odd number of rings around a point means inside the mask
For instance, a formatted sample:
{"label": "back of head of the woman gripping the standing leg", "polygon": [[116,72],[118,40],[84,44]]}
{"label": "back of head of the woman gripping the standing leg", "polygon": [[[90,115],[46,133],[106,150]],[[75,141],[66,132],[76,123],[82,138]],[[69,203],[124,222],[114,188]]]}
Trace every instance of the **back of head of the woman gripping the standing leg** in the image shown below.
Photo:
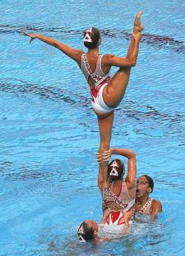
{"label": "back of head of the woman gripping the standing leg", "polygon": [[114,159],[109,163],[108,166],[108,175],[112,182],[123,179],[125,173],[125,166],[120,159]]}

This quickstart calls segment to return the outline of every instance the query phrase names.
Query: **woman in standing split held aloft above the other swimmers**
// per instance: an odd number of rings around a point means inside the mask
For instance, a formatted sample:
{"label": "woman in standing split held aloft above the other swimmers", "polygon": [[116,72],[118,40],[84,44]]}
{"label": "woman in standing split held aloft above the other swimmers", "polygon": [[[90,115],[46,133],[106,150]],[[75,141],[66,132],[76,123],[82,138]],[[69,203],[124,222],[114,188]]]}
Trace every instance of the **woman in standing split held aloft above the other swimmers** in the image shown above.
{"label": "woman in standing split held aloft above the other swimmers", "polygon": [[[88,49],[86,54],[81,50],[76,50],[47,36],[23,32],[25,36],[30,37],[30,42],[39,39],[46,44],[52,45],[75,60],[79,65],[89,84],[91,105],[99,123],[99,153],[109,149],[113,127],[113,110],[123,100],[131,68],[136,65],[139,43],[141,41],[141,31],[144,29],[144,26],[141,24],[141,14],[142,12],[136,14],[132,40],[125,58],[115,55],[99,55],[101,37],[99,30],[95,27],[91,27],[84,34],[84,45]],[[119,69],[113,75],[113,78],[110,78],[109,71],[112,66],[118,67]],[[104,187],[107,187],[106,172],[108,162],[103,162],[100,166],[103,174]]]}

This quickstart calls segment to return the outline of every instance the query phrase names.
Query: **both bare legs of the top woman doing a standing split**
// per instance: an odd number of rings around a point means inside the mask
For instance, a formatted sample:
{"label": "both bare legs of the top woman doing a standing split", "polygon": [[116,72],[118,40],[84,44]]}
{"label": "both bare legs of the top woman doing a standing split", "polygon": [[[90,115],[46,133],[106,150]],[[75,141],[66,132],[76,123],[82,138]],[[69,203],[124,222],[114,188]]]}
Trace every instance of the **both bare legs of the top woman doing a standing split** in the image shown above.
{"label": "both bare legs of the top woman doing a standing split", "polygon": [[[143,26],[141,27],[141,12],[138,12],[134,21],[133,34],[141,33]],[[137,58],[139,50],[139,43],[136,45],[136,40],[132,37],[131,43],[127,51],[127,57],[129,58],[132,55],[135,55]],[[119,69],[117,73],[113,76],[111,83],[109,83],[106,88],[104,88],[103,97],[104,102],[109,107],[117,107],[118,104],[122,101],[124,93],[127,88],[127,83],[130,77],[131,68]],[[99,153],[109,149],[112,127],[113,127],[113,113],[110,116],[100,118],[98,116],[99,122],[99,135],[100,135],[100,145]],[[100,168],[103,175],[104,187],[108,187],[108,162],[102,162]]]}

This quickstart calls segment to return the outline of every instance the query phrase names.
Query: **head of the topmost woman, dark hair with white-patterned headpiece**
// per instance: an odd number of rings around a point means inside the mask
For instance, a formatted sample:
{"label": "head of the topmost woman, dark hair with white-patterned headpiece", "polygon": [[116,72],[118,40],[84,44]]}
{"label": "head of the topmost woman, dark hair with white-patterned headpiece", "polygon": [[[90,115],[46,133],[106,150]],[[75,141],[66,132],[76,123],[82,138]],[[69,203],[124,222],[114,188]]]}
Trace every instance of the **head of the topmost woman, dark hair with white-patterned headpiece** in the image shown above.
{"label": "head of the topmost woman, dark hair with white-patterned headpiece", "polygon": [[101,44],[99,30],[96,27],[90,27],[84,33],[84,45],[88,49],[94,49]]}

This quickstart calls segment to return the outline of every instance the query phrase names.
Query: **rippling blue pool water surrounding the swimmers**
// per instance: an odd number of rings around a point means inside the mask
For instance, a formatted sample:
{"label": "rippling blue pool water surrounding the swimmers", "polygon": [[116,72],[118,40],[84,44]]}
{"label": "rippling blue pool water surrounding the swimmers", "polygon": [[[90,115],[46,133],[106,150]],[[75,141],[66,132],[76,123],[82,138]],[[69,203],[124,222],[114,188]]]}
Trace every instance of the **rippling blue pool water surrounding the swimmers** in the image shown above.
{"label": "rippling blue pool water surrounding the swimmers", "polygon": [[[1,256],[185,255],[184,9],[183,0],[1,1]],[[90,93],[71,59],[21,30],[85,50],[82,31],[97,26],[100,52],[121,56],[138,10],[146,30],[111,145],[136,151],[137,175],[154,178],[163,213],[127,238],[79,244],[81,221],[101,217]]]}

